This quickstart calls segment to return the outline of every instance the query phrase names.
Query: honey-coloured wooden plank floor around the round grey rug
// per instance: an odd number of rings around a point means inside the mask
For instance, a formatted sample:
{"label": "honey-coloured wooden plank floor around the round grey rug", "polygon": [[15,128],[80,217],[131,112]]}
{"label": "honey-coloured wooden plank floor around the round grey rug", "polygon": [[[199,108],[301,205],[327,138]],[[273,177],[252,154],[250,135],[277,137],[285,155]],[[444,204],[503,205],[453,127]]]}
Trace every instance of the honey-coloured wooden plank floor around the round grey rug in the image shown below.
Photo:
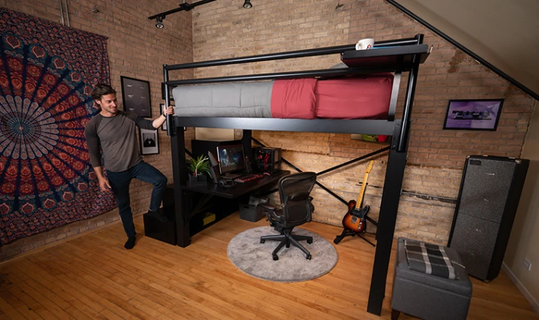
{"label": "honey-coloured wooden plank floor around the round grey rug", "polygon": [[[135,224],[142,234],[142,218]],[[235,213],[195,235],[187,248],[140,235],[135,248],[125,250],[117,224],[31,252],[0,264],[0,320],[390,319],[392,272],[381,317],[365,311],[374,248],[359,238],[345,238],[336,246],[334,269],[308,282],[268,282],[237,270],[227,257],[228,242],[262,225],[267,222],[250,223]],[[329,241],[342,231],[320,223],[302,228]],[[468,319],[539,316],[501,272],[488,284],[473,279]]]}

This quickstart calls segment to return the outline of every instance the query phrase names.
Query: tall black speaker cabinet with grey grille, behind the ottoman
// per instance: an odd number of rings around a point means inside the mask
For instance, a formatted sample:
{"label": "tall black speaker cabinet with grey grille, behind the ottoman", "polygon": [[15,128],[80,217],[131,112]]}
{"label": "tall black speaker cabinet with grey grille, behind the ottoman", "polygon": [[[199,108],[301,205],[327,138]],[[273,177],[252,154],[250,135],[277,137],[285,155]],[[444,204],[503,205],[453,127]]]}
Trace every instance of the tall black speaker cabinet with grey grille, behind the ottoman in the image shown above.
{"label": "tall black speaker cabinet with grey grille, behind the ottoman", "polygon": [[529,164],[498,156],[466,159],[448,246],[471,276],[486,282],[498,277]]}

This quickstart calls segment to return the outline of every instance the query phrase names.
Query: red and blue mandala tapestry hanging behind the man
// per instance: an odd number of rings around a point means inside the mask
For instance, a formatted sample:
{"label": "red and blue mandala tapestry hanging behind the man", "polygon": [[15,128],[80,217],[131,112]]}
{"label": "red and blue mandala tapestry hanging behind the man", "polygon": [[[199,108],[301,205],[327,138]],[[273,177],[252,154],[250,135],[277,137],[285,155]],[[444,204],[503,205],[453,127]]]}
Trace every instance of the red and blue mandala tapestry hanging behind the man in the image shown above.
{"label": "red and blue mandala tapestry hanging behind the man", "polygon": [[116,207],[84,127],[109,83],[106,37],[0,9],[0,245]]}

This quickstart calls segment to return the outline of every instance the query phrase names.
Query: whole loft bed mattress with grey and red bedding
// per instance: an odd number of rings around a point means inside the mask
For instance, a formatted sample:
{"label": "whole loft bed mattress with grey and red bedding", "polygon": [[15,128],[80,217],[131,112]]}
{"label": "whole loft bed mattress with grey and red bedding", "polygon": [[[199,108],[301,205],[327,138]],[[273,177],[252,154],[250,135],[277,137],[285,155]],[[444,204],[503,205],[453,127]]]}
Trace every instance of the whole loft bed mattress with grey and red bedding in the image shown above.
{"label": "whole loft bed mattress with grey and red bedding", "polygon": [[178,117],[386,119],[393,75],[175,87]]}

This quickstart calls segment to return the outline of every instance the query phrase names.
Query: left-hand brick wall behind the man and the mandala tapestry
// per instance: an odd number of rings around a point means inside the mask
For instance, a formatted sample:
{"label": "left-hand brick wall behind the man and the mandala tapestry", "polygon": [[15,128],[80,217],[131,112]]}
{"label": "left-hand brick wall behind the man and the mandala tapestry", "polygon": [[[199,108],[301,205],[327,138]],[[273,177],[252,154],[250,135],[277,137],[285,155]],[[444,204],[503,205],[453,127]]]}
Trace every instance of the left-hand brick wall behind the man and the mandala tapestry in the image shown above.
{"label": "left-hand brick wall behind the man and the mandala tapestry", "polygon": [[[21,0],[0,1],[0,6],[24,12],[39,18],[60,23],[58,1]],[[161,100],[160,83],[163,81],[163,64],[187,63],[193,61],[191,14],[181,12],[165,18],[165,28],[155,28],[155,21],[148,16],[167,11],[178,6],[178,1],[68,1],[69,18],[72,28],[98,33],[108,37],[108,58],[110,60],[111,83],[118,91],[121,105],[120,75],[148,80],[152,102],[152,116],[158,116]],[[99,12],[94,14],[96,7]],[[192,77],[191,72],[176,73],[176,78]],[[166,132],[159,132],[160,154],[144,156],[144,160],[165,174],[172,182],[172,159],[170,139]],[[194,136],[190,129],[188,137]],[[152,186],[148,183],[131,183],[131,206],[133,213],[148,210]],[[34,247],[62,240],[86,230],[95,229],[118,221],[118,210],[112,210],[98,217],[71,223],[61,228],[16,240],[0,247],[0,261]]]}

